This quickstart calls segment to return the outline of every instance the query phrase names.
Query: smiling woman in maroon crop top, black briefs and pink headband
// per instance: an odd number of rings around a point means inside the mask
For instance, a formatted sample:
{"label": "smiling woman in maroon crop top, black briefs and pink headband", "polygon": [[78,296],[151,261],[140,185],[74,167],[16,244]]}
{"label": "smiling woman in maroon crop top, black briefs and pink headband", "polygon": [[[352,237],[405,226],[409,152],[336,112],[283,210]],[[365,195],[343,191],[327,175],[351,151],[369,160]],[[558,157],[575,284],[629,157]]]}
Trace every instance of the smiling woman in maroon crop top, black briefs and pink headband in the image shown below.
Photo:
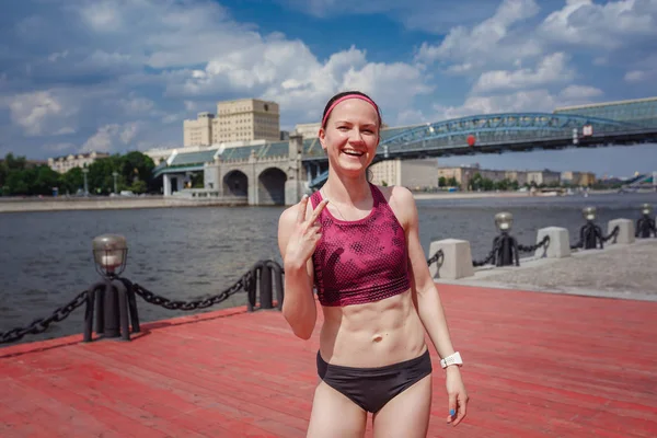
{"label": "smiling woman in maroon crop top, black briefs and pink headband", "polygon": [[319,132],[328,178],[279,219],[283,314],[297,336],[310,338],[316,321],[313,285],[324,314],[312,438],[362,437],[368,412],[376,437],[425,437],[433,372],[425,330],[449,362],[441,364],[447,423],[465,416],[460,356],[419,243],[413,195],[367,180],[380,129],[379,107],[364,93],[331,99]]}

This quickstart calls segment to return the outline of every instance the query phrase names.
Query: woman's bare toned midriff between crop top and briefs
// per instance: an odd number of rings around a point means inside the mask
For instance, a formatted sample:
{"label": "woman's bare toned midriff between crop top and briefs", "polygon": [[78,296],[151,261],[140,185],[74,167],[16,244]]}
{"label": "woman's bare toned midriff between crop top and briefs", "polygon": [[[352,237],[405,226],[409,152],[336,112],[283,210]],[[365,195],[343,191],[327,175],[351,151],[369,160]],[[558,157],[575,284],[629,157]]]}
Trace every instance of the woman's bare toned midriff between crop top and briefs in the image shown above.
{"label": "woman's bare toned midriff between crop top and briefs", "polygon": [[376,302],[322,310],[320,353],[330,364],[383,367],[413,359],[426,349],[411,290]]}

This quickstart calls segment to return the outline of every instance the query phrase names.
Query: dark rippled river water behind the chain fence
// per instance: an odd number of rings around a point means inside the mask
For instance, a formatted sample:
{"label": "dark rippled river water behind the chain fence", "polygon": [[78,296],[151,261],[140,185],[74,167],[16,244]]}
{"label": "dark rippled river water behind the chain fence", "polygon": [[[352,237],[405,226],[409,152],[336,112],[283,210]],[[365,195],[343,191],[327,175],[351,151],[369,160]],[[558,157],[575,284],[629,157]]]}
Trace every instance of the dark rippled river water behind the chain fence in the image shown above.
{"label": "dark rippled river water behind the chain fence", "polygon": [[[583,207],[598,207],[597,222],[607,233],[611,219],[636,220],[642,203],[657,206],[657,194],[420,199],[417,209],[427,256],[431,241],[453,238],[470,241],[473,257],[481,260],[497,234],[498,211],[514,214],[512,234],[521,244],[533,244],[537,231],[551,226],[567,228],[574,243],[584,224]],[[0,332],[49,315],[96,281],[91,242],[104,233],[126,237],[129,255],[123,276],[134,283],[176,300],[216,295],[258,260],[280,263],[276,234],[283,210],[207,207],[0,215]],[[220,307],[245,302],[244,293],[238,293]],[[142,322],[188,313],[141,299],[138,307]],[[22,342],[80,333],[82,319],[80,308],[46,333]]]}

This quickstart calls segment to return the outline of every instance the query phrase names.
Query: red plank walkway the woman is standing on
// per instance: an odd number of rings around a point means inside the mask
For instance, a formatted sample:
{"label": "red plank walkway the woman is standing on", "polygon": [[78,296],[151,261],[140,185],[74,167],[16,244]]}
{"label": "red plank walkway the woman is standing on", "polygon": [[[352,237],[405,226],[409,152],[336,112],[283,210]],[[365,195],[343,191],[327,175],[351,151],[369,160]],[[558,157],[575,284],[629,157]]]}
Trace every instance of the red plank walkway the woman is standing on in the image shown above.
{"label": "red plank walkway the woman is standing on", "polygon": [[[430,437],[657,436],[657,303],[440,290],[471,403],[445,424],[431,348]],[[319,331],[303,342],[280,313],[243,310],[145,328],[1,348],[0,436],[304,436]]]}

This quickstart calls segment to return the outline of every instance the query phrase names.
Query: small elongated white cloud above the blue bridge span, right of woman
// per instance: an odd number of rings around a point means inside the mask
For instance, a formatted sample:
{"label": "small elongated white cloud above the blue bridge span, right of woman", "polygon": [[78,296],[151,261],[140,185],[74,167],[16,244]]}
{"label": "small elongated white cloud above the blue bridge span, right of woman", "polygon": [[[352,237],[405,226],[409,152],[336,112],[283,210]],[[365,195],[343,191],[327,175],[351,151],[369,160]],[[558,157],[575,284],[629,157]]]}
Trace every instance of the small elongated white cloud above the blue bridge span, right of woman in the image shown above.
{"label": "small elongated white cloud above the blue bridge span, right of woman", "polygon": [[567,56],[556,53],[544,57],[535,69],[495,70],[483,73],[473,91],[518,90],[542,87],[553,82],[567,82],[574,72],[566,67]]}

